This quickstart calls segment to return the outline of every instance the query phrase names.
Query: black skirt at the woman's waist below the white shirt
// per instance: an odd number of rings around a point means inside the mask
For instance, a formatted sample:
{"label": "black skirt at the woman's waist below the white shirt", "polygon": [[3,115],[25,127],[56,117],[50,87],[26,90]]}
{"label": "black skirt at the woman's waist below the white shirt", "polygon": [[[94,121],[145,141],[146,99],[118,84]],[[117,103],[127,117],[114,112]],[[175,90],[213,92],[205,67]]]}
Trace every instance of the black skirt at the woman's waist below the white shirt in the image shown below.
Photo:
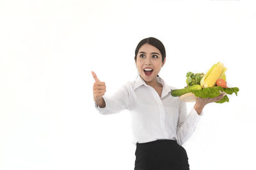
{"label": "black skirt at the woman's waist below the white shirt", "polygon": [[189,170],[187,152],[175,140],[137,143],[135,155],[134,170]]}

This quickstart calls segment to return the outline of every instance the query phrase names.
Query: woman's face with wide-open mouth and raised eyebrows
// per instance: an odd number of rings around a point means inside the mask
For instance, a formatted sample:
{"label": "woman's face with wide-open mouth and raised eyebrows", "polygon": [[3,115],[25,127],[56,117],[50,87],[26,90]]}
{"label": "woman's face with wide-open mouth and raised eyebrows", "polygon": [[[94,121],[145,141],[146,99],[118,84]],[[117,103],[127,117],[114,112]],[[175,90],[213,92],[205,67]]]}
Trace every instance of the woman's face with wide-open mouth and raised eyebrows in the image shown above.
{"label": "woman's face with wide-open mouth and raised eyebrows", "polygon": [[[145,83],[148,85],[157,84],[156,76],[164,63],[165,58],[164,62],[162,62],[161,52],[155,46],[145,44],[140,47],[137,54],[136,66]],[[152,69],[152,71],[145,71],[146,68],[148,70]]]}

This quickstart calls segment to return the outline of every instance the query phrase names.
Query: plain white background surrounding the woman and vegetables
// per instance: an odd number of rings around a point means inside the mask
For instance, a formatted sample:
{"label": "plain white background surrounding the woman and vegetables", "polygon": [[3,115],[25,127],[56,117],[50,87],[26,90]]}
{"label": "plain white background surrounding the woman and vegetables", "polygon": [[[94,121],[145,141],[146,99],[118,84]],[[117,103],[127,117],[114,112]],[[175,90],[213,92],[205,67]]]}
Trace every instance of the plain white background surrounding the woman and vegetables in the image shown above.
{"label": "plain white background surrounding the woman and vegetables", "polygon": [[[205,106],[183,145],[191,170],[253,169],[256,11],[253,1],[0,1],[0,169],[133,169],[127,110],[94,108],[95,71],[111,96],[134,80],[134,51],[166,48],[161,76],[227,67],[229,103]],[[195,103],[188,103],[190,111]]]}

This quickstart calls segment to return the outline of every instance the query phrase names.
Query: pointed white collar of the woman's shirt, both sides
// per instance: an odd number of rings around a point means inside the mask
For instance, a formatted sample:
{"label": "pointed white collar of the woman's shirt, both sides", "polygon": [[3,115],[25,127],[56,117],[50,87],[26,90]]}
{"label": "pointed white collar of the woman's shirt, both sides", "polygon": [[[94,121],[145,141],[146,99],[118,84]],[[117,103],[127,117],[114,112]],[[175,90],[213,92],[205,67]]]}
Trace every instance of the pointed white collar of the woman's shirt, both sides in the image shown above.
{"label": "pointed white collar of the woman's shirt, both sides", "polygon": [[[161,94],[161,98],[163,98],[164,96],[166,96],[172,89],[171,87],[160,77],[160,76],[156,76],[156,80],[158,83],[161,83],[161,85],[163,85],[163,92]],[[145,83],[145,81],[143,80],[143,78],[141,78],[140,74],[138,74],[136,80],[135,80],[135,84],[134,84],[134,90],[137,89],[138,87],[140,87],[141,85],[145,85],[147,87],[149,87],[149,85],[147,85]]]}

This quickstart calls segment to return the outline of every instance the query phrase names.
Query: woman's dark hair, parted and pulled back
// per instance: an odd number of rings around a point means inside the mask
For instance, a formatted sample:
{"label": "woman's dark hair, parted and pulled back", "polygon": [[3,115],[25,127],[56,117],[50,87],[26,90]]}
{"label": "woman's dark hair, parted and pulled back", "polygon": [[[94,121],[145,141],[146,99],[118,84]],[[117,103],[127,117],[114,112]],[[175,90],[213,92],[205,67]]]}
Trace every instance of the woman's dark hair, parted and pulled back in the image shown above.
{"label": "woman's dark hair, parted and pulled back", "polygon": [[149,38],[142,39],[140,41],[140,43],[138,43],[138,45],[136,47],[136,50],[135,50],[135,57],[134,57],[135,60],[137,60],[137,54],[139,52],[140,47],[145,45],[145,44],[150,44],[152,46],[155,46],[161,52],[162,62],[164,62],[164,58],[165,58],[165,55],[166,55],[164,45],[159,39],[156,39],[154,37],[149,37]]}

